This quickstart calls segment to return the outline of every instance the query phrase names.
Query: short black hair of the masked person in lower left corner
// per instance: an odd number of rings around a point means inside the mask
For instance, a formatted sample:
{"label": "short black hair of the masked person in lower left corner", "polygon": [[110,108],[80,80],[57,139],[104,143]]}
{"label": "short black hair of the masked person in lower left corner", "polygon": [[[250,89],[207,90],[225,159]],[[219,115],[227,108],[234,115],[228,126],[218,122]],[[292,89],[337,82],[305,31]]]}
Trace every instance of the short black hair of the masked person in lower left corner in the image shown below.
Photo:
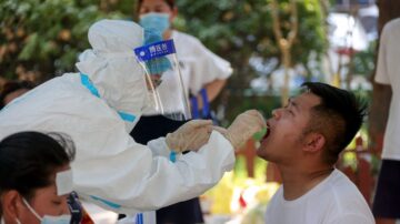
{"label": "short black hair of the masked person in lower left corner", "polygon": [[16,190],[30,200],[36,190],[51,185],[51,175],[74,155],[66,134],[28,131],[7,136],[0,142],[0,195]]}

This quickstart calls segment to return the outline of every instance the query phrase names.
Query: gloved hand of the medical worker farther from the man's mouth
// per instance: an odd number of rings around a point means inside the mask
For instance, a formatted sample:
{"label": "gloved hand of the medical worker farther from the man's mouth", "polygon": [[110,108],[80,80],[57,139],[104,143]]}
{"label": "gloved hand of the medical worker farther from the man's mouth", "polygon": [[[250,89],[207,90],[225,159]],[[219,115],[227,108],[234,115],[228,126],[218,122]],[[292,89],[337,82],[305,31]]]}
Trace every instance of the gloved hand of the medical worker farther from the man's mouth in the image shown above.
{"label": "gloved hand of the medical worker farther from the man's mouth", "polygon": [[192,120],[177,131],[168,133],[166,142],[169,149],[176,152],[198,151],[209,141],[211,132],[211,120]]}

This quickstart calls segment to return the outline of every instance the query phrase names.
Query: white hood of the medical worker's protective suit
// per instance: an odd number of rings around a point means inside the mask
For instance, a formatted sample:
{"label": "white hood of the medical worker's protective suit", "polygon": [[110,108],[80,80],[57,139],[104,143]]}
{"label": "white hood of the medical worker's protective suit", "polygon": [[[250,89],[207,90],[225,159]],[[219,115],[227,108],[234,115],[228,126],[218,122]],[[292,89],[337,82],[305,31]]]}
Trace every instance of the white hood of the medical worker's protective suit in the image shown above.
{"label": "white hood of the medical worker's protective suit", "polygon": [[126,122],[130,131],[147,100],[144,71],[133,52],[143,44],[143,29],[130,21],[101,20],[90,27],[88,38],[92,49],[80,54],[76,65],[89,77],[99,98],[119,113],[133,118]]}

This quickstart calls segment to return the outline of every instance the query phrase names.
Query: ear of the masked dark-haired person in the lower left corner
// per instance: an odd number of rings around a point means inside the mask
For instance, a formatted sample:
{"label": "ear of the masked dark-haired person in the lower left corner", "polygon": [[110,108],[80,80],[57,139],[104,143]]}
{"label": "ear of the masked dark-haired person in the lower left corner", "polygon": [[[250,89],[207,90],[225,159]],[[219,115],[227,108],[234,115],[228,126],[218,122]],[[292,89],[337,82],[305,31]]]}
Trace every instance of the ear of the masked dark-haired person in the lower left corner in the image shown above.
{"label": "ear of the masked dark-haired person in the lower left corner", "polygon": [[3,217],[7,221],[16,221],[21,210],[20,194],[16,190],[7,191],[1,196]]}

